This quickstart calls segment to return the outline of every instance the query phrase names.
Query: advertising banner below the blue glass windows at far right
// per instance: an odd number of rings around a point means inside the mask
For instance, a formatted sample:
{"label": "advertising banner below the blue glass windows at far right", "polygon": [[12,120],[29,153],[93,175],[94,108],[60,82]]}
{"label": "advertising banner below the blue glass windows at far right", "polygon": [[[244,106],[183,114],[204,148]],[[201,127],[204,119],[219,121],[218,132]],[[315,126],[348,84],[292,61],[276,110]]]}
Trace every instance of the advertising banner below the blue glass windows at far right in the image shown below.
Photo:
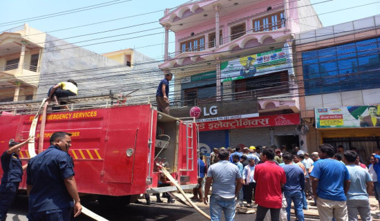
{"label": "advertising banner below the blue glass windows at far right", "polygon": [[316,128],[379,127],[380,106],[315,108]]}

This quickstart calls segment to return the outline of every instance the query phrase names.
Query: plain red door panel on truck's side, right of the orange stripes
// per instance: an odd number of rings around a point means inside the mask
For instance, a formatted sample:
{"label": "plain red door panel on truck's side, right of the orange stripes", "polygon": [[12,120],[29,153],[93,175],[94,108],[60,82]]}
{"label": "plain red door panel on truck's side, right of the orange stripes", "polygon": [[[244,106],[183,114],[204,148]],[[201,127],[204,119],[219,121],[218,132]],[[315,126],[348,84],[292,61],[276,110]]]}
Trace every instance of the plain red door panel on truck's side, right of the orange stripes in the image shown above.
{"label": "plain red door panel on truck's side, right of the orange stripes", "polygon": [[107,132],[102,182],[132,183],[136,138],[136,129]]}

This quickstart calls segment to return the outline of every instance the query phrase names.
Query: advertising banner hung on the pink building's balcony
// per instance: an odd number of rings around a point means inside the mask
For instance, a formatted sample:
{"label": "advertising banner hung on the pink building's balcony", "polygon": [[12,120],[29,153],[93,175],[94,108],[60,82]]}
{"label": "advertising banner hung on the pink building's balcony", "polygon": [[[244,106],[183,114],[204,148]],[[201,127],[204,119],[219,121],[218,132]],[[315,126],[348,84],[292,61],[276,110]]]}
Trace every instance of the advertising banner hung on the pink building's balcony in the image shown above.
{"label": "advertising banner hung on the pink building's balcony", "polygon": [[220,64],[221,81],[234,81],[265,75],[288,68],[285,49],[269,50],[247,57],[240,57]]}

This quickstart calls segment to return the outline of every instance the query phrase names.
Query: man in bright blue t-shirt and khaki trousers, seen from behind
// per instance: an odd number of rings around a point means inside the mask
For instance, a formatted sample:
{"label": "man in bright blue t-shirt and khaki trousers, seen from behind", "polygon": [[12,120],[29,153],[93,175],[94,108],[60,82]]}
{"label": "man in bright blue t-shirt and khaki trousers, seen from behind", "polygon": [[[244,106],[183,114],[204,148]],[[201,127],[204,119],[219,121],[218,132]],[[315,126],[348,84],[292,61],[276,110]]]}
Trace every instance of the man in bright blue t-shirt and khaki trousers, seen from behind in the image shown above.
{"label": "man in bright blue t-shirt and khaki trousers, seen from behind", "polygon": [[345,193],[350,189],[350,173],[341,162],[333,160],[335,151],[330,144],[319,146],[319,157],[314,162],[312,191],[321,220],[348,220]]}

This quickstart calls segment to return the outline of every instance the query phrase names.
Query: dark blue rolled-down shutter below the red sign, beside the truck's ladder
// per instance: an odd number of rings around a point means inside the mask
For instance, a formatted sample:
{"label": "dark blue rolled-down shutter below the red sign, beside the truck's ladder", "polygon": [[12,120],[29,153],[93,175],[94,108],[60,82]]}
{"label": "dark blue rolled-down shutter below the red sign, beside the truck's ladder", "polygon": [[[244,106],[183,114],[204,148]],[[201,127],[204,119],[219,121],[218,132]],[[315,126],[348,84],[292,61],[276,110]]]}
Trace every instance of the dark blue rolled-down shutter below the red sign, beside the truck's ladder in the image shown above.
{"label": "dark blue rolled-down shutter below the red sign, beside the truck's ladder", "polygon": [[200,131],[199,150],[200,153],[208,155],[214,147],[220,148],[229,146],[228,131]]}

